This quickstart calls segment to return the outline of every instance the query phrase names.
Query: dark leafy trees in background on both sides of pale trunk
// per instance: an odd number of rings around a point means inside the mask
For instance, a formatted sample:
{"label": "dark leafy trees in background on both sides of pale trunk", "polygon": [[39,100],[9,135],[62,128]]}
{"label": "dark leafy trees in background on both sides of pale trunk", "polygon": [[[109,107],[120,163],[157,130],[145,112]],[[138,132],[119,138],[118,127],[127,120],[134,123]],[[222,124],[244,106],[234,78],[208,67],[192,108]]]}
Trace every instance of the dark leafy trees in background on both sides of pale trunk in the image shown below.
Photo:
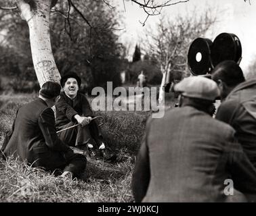
{"label": "dark leafy trees in background on both sides of pale trunk", "polygon": [[[52,9],[51,47],[60,74],[70,70],[77,72],[85,83],[84,87],[88,89],[105,86],[106,81],[112,81],[114,86],[119,85],[119,67],[123,63],[124,49],[116,34],[121,23],[119,14],[103,1],[76,2],[79,3],[78,9],[90,18],[89,23],[94,30],[77,11],[68,11],[68,5],[58,3]],[[12,76],[15,90],[24,89],[25,80],[36,79],[32,56],[28,52],[30,40],[27,24],[19,18],[17,11],[10,13],[9,10],[2,10],[0,14],[6,14],[7,17],[5,22],[0,20],[2,29],[5,29],[5,43],[2,47],[6,50],[6,55],[0,56],[0,62],[3,62],[0,67],[5,69],[1,70],[1,74]],[[19,84],[15,81],[19,81]]]}

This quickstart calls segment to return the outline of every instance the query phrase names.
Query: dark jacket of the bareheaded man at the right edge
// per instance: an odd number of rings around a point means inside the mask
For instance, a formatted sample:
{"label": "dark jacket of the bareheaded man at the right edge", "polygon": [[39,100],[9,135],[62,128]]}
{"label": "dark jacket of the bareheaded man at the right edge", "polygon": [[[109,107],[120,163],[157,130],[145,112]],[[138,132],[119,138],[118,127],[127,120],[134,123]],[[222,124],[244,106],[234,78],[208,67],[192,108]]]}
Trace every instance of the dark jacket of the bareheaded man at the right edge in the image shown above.
{"label": "dark jacket of the bareheaded man at the right edge", "polygon": [[217,109],[216,119],[236,130],[236,138],[256,167],[256,80],[242,82]]}

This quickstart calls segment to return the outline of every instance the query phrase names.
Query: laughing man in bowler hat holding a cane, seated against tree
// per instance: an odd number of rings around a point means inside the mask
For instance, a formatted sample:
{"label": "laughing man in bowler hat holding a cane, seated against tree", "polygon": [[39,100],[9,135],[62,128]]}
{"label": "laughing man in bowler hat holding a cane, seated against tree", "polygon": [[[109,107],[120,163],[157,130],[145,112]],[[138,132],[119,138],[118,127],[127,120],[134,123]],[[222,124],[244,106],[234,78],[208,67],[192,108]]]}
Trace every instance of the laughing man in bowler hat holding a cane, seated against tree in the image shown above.
{"label": "laughing man in bowler hat holding a cane, seated against tree", "polygon": [[74,72],[62,76],[60,84],[64,92],[60,93],[60,99],[56,103],[56,127],[63,130],[60,132],[60,139],[70,146],[91,150],[96,146],[98,155],[104,150],[102,135],[98,125],[93,120],[93,111],[85,95],[78,92],[81,86],[81,78]]}

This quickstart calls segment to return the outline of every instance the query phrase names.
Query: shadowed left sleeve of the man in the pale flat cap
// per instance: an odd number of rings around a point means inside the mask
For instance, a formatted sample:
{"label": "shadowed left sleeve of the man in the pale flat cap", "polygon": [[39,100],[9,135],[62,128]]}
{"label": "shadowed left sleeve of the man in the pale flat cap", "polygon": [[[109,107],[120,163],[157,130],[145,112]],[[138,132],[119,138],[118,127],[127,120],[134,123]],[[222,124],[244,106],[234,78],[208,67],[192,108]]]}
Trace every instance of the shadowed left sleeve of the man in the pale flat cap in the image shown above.
{"label": "shadowed left sleeve of the man in the pale flat cap", "polygon": [[146,126],[146,134],[140,151],[137,154],[135,169],[133,172],[133,178],[131,181],[131,188],[135,202],[142,202],[146,192],[148,190],[148,184],[150,182],[150,161],[148,155],[148,133],[150,130],[150,121],[148,120]]}

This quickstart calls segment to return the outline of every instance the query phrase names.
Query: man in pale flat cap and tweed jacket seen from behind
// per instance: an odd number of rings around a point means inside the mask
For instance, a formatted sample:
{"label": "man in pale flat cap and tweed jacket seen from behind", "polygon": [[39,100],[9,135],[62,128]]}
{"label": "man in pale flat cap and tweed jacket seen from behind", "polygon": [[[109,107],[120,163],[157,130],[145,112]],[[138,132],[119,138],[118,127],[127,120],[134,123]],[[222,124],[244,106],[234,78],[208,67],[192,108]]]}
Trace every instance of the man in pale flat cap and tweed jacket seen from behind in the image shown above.
{"label": "man in pale flat cap and tweed jacket seen from behind", "polygon": [[255,167],[234,129],[211,117],[217,84],[196,76],[174,89],[181,107],[147,122],[132,179],[135,201],[222,202],[228,179],[240,192],[256,193]]}

